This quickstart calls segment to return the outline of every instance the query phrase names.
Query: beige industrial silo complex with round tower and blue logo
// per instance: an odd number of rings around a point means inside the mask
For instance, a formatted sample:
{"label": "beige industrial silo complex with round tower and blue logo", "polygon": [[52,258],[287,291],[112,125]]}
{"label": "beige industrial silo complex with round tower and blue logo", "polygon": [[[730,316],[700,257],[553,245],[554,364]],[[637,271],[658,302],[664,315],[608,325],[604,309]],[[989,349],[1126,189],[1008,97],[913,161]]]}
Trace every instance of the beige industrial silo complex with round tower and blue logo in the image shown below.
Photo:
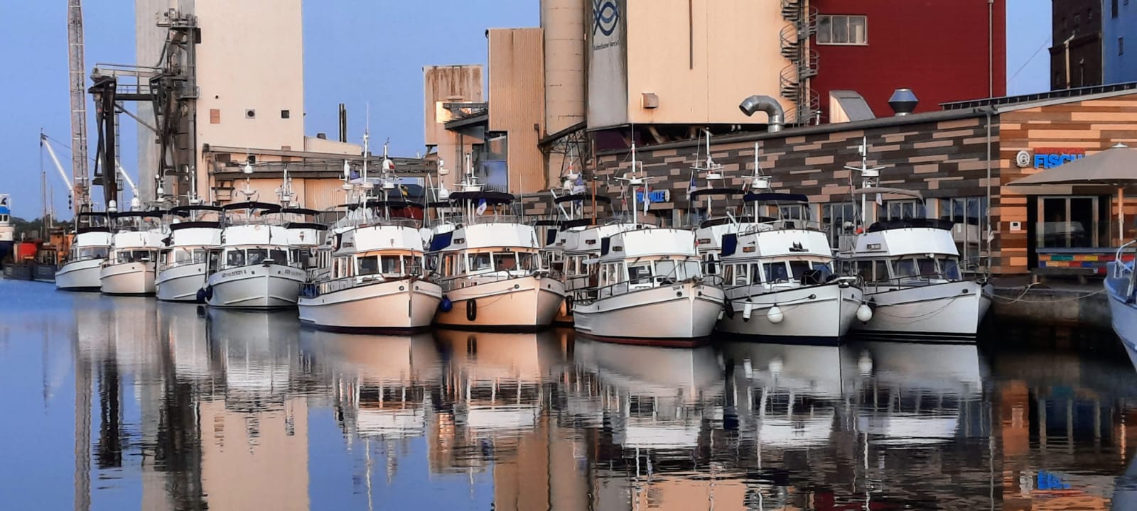
{"label": "beige industrial silo complex with round tower and blue logo", "polygon": [[425,142],[450,170],[443,182],[468,153],[495,189],[548,190],[605,140],[624,144],[634,125],[665,142],[707,125],[764,124],[737,107],[752,94],[777,98],[790,120],[808,115],[798,114],[808,101],[797,101],[808,78],[787,83],[779,73],[794,64],[778,35],[780,2],[540,3],[540,27],[487,31],[488,91],[481,66],[423,68]]}

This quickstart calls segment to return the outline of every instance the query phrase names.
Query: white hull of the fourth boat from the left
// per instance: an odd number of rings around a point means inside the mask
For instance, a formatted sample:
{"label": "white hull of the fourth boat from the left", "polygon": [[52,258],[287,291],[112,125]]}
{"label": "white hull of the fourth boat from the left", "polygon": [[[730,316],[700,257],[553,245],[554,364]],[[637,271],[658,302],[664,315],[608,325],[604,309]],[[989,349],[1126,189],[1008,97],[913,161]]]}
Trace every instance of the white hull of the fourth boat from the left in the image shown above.
{"label": "white hull of the fourth boat from the left", "polygon": [[229,309],[296,307],[307,273],[282,265],[244,266],[209,276],[206,302]]}

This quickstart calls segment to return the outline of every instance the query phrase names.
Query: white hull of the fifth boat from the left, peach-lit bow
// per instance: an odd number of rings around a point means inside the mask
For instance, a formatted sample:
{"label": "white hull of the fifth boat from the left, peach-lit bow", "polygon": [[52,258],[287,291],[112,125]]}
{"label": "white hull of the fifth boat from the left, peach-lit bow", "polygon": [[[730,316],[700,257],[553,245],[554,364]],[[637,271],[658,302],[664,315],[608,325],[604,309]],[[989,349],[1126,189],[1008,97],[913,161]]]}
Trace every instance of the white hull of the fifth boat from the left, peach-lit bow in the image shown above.
{"label": "white hull of the fifth boat from the left, peach-lit bow", "polygon": [[429,280],[367,284],[299,300],[300,321],[329,329],[416,330],[434,319],[442,287]]}

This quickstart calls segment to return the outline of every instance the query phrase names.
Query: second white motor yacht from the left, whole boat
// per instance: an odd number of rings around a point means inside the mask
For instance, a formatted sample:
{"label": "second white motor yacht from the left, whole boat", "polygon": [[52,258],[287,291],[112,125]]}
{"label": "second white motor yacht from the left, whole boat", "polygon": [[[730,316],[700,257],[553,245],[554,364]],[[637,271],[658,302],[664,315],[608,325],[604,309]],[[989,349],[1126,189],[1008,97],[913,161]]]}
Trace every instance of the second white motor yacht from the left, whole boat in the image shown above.
{"label": "second white motor yacht from the left, whole boat", "polygon": [[161,211],[110,213],[110,256],[99,268],[103,294],[153,294],[158,251],[166,231]]}

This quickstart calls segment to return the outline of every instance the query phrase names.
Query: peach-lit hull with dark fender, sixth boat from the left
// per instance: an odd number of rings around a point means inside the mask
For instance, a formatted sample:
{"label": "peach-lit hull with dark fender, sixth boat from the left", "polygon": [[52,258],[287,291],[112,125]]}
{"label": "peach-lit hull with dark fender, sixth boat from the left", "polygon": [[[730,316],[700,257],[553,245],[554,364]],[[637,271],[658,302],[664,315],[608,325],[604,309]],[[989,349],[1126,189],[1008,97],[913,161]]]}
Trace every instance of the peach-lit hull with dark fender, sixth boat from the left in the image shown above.
{"label": "peach-lit hull with dark fender, sixth boat from the left", "polygon": [[565,287],[554,278],[517,277],[450,288],[446,296],[451,308],[438,311],[434,317],[438,325],[532,330],[553,324],[564,301]]}

